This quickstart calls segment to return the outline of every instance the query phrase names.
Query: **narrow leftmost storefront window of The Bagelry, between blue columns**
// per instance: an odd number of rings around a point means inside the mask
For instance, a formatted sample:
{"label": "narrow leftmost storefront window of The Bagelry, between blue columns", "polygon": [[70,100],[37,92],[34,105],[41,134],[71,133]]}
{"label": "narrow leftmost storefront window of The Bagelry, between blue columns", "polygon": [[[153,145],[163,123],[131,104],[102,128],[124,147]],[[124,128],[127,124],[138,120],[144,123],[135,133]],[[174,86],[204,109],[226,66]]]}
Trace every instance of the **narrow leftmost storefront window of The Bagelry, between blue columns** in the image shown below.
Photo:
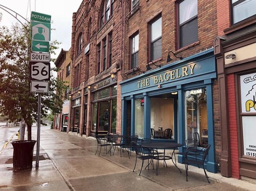
{"label": "narrow leftmost storefront window of The Bagelry, between blue columns", "polygon": [[144,137],[144,99],[135,100],[135,133]]}

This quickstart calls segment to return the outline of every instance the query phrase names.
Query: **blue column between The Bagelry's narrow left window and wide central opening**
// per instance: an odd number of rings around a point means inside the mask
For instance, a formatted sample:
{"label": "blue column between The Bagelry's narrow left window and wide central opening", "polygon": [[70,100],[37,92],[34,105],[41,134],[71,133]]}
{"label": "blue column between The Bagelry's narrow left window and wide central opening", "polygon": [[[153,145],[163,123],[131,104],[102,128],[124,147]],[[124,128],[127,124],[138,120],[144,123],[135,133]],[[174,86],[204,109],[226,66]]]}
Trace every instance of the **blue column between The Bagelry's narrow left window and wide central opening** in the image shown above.
{"label": "blue column between The Bagelry's narrow left window and wide central opening", "polygon": [[144,96],[144,137],[150,139],[150,98],[147,96],[147,93],[143,93]]}

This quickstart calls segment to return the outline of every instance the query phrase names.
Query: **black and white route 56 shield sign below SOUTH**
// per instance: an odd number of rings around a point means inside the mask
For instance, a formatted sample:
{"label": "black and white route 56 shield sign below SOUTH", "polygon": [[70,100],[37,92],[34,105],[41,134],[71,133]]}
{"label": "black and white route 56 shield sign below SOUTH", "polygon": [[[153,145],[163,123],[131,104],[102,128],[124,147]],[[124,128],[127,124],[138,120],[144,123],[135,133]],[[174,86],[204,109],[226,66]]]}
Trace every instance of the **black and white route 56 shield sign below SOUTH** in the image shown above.
{"label": "black and white route 56 shield sign below SOUTH", "polygon": [[49,81],[50,63],[49,62],[29,62],[30,80]]}

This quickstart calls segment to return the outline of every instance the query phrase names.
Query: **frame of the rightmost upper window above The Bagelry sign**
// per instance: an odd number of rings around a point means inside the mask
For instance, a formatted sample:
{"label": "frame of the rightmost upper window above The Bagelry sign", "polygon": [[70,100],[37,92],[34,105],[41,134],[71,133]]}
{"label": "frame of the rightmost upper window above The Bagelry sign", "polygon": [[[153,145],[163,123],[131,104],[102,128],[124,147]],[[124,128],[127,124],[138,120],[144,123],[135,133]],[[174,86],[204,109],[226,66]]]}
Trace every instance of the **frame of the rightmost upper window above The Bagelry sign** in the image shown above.
{"label": "frame of the rightmost upper window above The Bagelry sign", "polygon": [[[178,49],[181,49],[183,47],[188,46],[189,44],[195,43],[198,41],[198,0],[197,0],[197,14],[193,17],[190,17],[189,19],[183,21],[183,23],[180,23],[180,3],[184,2],[186,0],[181,0],[179,2],[177,2],[177,30],[178,30]],[[188,1],[189,2],[189,1]],[[193,41],[192,43],[184,43],[184,45],[182,45],[182,35],[181,35],[181,28],[182,26],[185,26],[188,23],[191,23],[192,21],[197,20],[197,39],[195,41]]]}

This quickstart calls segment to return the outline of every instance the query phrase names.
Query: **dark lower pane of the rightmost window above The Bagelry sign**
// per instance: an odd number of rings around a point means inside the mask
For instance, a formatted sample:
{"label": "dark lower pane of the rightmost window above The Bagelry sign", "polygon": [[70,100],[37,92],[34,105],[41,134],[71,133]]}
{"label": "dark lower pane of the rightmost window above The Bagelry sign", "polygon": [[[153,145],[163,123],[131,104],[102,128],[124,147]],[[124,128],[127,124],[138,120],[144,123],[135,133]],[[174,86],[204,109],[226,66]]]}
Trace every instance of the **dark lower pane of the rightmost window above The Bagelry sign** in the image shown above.
{"label": "dark lower pane of the rightmost window above The Bagelry sign", "polygon": [[198,41],[197,17],[190,22],[180,26],[180,47],[187,46]]}

